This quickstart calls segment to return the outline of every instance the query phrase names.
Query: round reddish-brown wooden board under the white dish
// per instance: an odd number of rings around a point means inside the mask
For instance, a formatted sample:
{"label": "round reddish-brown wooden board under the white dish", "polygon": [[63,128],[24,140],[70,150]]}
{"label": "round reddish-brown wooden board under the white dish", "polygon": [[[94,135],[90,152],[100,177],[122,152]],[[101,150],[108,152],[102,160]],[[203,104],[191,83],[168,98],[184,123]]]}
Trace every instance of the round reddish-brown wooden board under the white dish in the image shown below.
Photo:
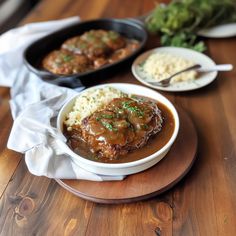
{"label": "round reddish-brown wooden board under the white dish", "polygon": [[196,157],[197,133],[192,120],[178,109],[180,130],[168,154],[155,166],[123,181],[56,181],[71,193],[98,203],[128,203],[156,196],[173,187],[190,170]]}

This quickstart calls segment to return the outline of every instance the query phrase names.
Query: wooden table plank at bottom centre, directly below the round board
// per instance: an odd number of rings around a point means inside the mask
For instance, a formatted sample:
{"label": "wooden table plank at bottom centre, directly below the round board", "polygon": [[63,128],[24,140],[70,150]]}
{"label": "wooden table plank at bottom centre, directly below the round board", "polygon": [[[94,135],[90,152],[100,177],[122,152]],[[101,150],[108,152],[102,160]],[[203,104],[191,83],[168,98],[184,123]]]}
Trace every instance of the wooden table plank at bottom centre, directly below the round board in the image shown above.
{"label": "wooden table plank at bottom centre, directly below the round board", "polygon": [[165,200],[135,204],[96,205],[86,236],[93,235],[172,235],[171,205]]}

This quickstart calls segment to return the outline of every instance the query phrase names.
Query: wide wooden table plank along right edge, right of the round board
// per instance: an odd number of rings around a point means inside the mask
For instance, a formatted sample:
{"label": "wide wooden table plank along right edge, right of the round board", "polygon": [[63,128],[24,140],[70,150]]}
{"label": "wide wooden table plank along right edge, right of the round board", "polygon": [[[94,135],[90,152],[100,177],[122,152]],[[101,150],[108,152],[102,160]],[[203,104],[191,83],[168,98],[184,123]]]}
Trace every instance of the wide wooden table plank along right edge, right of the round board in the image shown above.
{"label": "wide wooden table plank along right edge, right of the round board", "polygon": [[[235,39],[210,40],[208,45],[208,53],[217,63],[235,61]],[[184,185],[173,194],[175,235],[236,232],[234,88],[235,70],[219,74],[206,88],[176,98],[194,119],[199,154]]]}

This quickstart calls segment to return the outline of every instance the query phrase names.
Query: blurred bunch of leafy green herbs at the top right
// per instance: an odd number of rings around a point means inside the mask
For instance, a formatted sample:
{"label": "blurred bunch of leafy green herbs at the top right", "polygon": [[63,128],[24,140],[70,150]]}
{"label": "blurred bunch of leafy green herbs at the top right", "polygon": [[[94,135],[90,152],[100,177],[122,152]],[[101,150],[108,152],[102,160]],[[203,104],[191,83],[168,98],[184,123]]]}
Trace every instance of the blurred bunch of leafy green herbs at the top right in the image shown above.
{"label": "blurred bunch of leafy green herbs at the top right", "polygon": [[161,44],[206,50],[196,33],[219,24],[236,22],[236,0],[173,0],[158,4],[146,19],[147,29],[161,35]]}

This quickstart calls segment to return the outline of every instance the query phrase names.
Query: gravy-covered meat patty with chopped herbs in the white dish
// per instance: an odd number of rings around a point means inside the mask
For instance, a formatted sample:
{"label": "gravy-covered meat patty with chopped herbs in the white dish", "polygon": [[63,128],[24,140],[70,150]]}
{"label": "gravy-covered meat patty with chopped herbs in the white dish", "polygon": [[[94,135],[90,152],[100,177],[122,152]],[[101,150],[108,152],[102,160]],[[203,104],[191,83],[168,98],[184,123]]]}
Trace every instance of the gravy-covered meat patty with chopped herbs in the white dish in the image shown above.
{"label": "gravy-covered meat patty with chopped herbs in the white dish", "polygon": [[115,98],[82,121],[82,138],[93,153],[115,159],[144,146],[161,130],[162,122],[156,103],[143,98]]}

